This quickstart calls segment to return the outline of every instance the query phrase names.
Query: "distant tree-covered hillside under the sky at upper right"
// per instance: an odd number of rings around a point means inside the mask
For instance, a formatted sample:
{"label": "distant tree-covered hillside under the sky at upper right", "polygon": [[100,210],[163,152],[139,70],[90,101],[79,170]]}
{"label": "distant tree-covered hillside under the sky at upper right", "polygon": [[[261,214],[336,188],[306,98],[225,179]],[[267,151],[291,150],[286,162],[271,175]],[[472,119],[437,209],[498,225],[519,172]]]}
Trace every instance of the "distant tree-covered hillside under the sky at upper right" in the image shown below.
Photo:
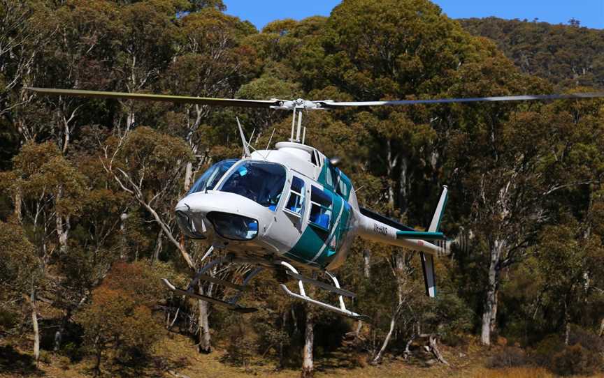
{"label": "distant tree-covered hillside under the sky at upper right", "polygon": [[543,77],[561,88],[604,89],[604,30],[497,17],[459,22],[473,35],[494,40],[526,74]]}

